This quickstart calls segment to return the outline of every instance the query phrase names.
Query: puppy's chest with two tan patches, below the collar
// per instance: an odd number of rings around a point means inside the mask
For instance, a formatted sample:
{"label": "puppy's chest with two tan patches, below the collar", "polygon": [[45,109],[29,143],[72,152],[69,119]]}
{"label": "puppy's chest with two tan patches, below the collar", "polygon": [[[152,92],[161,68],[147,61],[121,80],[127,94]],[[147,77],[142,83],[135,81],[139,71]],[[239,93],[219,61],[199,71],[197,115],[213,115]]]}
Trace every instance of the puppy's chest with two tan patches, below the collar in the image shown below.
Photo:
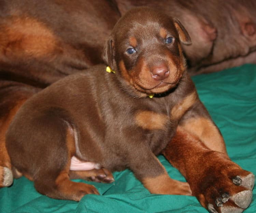
{"label": "puppy's chest with two tan patches, below the collar", "polygon": [[179,120],[193,106],[196,98],[196,92],[192,92],[173,102],[135,110],[134,124],[145,135],[153,151],[157,152],[158,147],[170,141]]}

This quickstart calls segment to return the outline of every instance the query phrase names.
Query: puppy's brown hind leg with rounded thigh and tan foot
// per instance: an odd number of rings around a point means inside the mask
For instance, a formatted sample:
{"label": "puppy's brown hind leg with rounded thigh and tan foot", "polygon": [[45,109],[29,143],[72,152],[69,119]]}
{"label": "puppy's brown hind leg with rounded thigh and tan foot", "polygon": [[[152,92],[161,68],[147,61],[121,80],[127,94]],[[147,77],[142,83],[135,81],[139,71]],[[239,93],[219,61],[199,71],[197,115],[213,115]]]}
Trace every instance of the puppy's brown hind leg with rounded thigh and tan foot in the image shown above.
{"label": "puppy's brown hind leg with rounded thigh and tan foot", "polygon": [[93,185],[72,182],[69,178],[75,144],[65,111],[48,109],[27,116],[26,120],[20,117],[10,126],[6,147],[12,164],[24,176],[31,177],[39,193],[74,201],[79,201],[85,194],[99,194]]}

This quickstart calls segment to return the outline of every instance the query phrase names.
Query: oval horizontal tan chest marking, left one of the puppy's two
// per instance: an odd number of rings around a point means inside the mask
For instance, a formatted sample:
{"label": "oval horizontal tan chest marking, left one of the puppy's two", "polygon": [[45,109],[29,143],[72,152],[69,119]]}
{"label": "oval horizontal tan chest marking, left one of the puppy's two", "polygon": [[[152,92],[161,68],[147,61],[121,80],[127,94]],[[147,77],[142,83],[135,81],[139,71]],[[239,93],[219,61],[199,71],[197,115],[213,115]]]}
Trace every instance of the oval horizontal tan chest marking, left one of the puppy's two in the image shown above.
{"label": "oval horizontal tan chest marking, left one of the puppy's two", "polygon": [[169,120],[170,118],[167,115],[152,111],[138,111],[135,114],[136,124],[148,130],[165,129]]}

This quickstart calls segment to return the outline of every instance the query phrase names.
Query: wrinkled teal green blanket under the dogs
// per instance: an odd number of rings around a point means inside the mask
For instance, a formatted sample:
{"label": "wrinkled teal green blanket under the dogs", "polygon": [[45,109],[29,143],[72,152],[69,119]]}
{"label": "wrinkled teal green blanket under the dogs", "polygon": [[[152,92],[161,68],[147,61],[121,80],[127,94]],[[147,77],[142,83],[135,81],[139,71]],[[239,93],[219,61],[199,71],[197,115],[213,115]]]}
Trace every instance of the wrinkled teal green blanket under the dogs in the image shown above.
{"label": "wrinkled teal green blanket under the dogs", "polygon": [[[256,65],[200,75],[193,80],[224,136],[231,159],[256,174]],[[159,160],[172,178],[185,181],[163,156]],[[35,191],[33,182],[22,177],[11,187],[0,189],[0,212],[207,212],[195,197],[150,194],[128,169],[114,173],[114,178],[111,184],[90,182],[101,195],[86,195],[74,202],[43,196]],[[256,189],[244,212],[256,212]]]}

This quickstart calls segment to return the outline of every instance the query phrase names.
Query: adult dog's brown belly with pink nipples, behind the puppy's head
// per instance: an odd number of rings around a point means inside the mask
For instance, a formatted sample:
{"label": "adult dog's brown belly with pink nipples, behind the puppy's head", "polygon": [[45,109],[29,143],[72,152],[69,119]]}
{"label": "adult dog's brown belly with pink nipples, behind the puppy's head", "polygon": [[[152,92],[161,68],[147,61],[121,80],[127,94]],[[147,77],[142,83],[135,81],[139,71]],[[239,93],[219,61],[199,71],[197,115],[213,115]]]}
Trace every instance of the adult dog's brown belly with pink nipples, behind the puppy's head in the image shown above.
{"label": "adult dog's brown belly with pink nipples, behind the puppy's head", "polygon": [[[183,46],[192,75],[255,63],[255,1],[116,0],[119,11],[147,5],[179,18],[193,44]],[[252,55],[250,55],[250,53]]]}

